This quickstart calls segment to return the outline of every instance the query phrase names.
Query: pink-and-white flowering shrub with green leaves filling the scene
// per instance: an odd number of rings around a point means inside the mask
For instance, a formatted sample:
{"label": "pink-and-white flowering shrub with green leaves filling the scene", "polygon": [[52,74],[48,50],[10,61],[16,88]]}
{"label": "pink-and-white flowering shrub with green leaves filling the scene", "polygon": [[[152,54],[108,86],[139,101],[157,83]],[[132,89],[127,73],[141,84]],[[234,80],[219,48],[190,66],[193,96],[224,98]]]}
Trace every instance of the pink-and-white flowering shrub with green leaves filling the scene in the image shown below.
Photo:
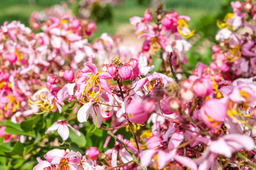
{"label": "pink-and-white flowering shrub with green leaves filling the scene", "polygon": [[95,23],[68,13],[5,22],[1,167],[255,169],[256,3],[231,5],[213,61],[188,78],[190,18],[161,6],[130,19],[139,50],[106,33],[91,43]]}

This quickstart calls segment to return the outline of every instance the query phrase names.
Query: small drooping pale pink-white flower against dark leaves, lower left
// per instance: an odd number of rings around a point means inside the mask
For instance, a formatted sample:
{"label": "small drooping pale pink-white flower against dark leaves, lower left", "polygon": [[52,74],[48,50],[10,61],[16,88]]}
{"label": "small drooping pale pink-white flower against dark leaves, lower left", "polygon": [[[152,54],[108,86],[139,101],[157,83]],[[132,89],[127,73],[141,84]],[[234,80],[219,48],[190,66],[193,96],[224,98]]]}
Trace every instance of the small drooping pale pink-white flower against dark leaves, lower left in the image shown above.
{"label": "small drooping pale pink-white flower against dark leaves, lower left", "polygon": [[56,131],[58,129],[58,134],[60,134],[63,141],[65,141],[65,140],[67,140],[67,138],[69,136],[68,127],[70,127],[72,129],[72,131],[74,131],[78,136],[81,135],[79,131],[74,129],[74,127],[72,127],[70,124],[68,124],[68,122],[65,122],[63,120],[58,120],[58,122],[54,122],[54,124],[52,124],[51,127],[49,127],[47,129],[45,134],[47,134],[49,132],[53,133],[54,131]]}

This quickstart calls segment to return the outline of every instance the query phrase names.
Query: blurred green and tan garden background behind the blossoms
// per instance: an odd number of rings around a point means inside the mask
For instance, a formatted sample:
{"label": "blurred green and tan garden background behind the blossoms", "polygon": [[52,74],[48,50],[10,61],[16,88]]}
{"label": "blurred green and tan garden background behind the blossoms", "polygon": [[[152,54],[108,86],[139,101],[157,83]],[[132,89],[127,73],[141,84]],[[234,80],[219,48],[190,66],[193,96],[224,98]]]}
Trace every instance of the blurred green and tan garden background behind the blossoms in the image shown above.
{"label": "blurred green and tan garden background behind the blossoms", "polygon": [[[97,24],[97,31],[93,38],[98,38],[103,32],[122,38],[124,45],[139,45],[143,40],[138,40],[134,34],[134,26],[129,24],[133,16],[143,17],[145,9],[156,8],[157,3],[163,3],[166,11],[178,11],[179,15],[188,15],[188,23],[196,34],[190,38],[193,48],[186,53],[188,69],[195,67],[199,61],[208,64],[211,60],[211,46],[216,43],[215,35],[218,31],[216,20],[222,20],[227,12],[232,11],[231,0],[104,0],[104,4],[97,0],[90,4],[90,11],[86,11],[86,1],[95,0],[0,0],[0,24],[4,21],[20,20],[29,25],[29,16],[33,11],[45,11],[52,6],[58,10],[70,8],[74,15],[86,15]],[[111,3],[106,3],[106,2]],[[60,10],[62,9],[60,8]],[[81,14],[82,13],[82,14]],[[135,42],[135,43],[134,43]]]}

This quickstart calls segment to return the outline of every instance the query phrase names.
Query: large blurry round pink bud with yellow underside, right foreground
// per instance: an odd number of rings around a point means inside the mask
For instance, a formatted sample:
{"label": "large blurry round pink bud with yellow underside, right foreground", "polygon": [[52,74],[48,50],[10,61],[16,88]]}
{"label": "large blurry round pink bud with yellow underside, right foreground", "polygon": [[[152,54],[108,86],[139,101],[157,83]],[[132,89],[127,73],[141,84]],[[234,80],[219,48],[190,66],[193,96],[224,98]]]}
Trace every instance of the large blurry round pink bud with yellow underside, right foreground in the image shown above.
{"label": "large blurry round pink bud with yellow underside, right foreground", "polygon": [[209,99],[200,109],[200,115],[206,125],[214,127],[226,117],[227,106],[220,99]]}

